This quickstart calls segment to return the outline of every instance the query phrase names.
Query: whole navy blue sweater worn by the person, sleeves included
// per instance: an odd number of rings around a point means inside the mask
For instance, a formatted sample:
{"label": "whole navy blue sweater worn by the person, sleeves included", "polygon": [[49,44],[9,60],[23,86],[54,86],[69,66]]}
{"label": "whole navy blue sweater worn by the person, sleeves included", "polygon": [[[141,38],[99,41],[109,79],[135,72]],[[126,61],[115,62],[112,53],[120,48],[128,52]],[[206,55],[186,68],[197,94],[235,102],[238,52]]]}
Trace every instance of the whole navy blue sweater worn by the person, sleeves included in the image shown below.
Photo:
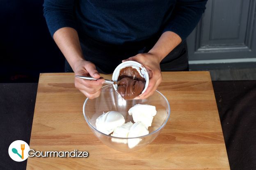
{"label": "whole navy blue sweater worn by the person, sleeves included", "polygon": [[122,45],[173,31],[182,40],[192,32],[207,0],[45,0],[50,34],[72,27],[100,42]]}

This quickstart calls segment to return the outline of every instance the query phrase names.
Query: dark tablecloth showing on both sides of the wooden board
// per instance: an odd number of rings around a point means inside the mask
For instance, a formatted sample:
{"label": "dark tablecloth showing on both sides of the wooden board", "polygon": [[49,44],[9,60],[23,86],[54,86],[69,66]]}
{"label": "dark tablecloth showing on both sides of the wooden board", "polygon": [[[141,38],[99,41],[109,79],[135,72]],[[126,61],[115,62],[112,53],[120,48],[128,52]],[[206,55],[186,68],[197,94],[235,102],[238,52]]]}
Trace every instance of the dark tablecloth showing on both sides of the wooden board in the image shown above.
{"label": "dark tablecloth showing on both sides of the wooden board", "polygon": [[[231,170],[256,170],[256,81],[214,81]],[[24,170],[8,155],[15,140],[30,142],[37,83],[0,84],[0,170]]]}

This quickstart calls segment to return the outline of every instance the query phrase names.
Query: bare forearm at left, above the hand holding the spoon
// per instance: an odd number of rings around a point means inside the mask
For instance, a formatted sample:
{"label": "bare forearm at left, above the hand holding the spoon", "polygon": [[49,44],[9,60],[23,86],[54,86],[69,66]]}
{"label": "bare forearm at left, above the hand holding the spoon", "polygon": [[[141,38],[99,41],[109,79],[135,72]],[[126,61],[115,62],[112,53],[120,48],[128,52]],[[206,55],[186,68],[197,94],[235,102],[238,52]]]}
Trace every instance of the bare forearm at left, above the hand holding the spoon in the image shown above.
{"label": "bare forearm at left, above the hand holding the spoon", "polygon": [[64,27],[53,34],[53,39],[74,70],[75,64],[84,60],[77,31],[71,27]]}

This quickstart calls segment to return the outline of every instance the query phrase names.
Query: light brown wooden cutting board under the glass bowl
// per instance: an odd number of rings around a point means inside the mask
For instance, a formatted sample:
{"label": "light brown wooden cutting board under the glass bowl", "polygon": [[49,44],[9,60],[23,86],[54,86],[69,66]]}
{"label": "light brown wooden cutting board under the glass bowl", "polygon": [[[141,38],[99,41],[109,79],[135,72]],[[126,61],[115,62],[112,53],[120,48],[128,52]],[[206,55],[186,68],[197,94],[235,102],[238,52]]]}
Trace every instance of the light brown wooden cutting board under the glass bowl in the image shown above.
{"label": "light brown wooden cutting board under the glass bowl", "polygon": [[27,170],[228,170],[209,72],[162,72],[162,76],[158,90],[170,103],[170,119],[151,144],[124,153],[105,146],[89,129],[82,114],[86,97],[75,89],[74,74],[40,74],[30,148],[77,149],[89,152],[89,157],[29,157]]}

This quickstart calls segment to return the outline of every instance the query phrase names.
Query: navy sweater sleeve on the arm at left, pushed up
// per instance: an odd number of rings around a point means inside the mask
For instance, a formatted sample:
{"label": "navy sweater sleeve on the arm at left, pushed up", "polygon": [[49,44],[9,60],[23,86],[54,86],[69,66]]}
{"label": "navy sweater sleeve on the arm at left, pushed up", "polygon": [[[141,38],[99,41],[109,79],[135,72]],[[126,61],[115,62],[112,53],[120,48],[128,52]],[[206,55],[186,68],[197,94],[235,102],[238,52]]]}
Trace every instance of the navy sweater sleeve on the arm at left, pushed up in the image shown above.
{"label": "navy sweater sleeve on the arm at left, pushed up", "polygon": [[74,0],[44,0],[43,16],[51,36],[60,28],[76,29],[74,20]]}

